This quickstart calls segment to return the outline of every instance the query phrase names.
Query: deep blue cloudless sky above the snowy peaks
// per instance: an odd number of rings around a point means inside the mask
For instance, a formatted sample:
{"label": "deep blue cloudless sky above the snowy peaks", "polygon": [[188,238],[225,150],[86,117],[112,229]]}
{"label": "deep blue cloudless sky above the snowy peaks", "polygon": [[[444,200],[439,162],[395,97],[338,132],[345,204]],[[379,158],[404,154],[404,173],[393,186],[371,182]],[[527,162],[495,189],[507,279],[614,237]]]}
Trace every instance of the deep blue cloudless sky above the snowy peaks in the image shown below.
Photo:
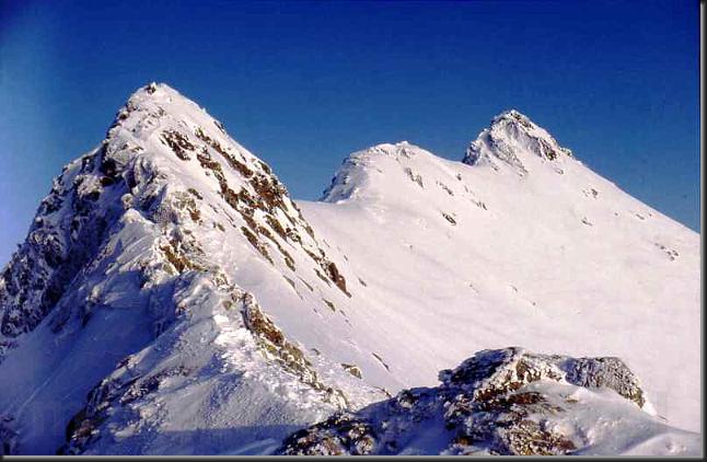
{"label": "deep blue cloudless sky above the snowy peaks", "polygon": [[61,165],[167,82],[313,199],[350,152],[449,159],[515,107],[699,230],[698,2],[0,0],[0,264]]}

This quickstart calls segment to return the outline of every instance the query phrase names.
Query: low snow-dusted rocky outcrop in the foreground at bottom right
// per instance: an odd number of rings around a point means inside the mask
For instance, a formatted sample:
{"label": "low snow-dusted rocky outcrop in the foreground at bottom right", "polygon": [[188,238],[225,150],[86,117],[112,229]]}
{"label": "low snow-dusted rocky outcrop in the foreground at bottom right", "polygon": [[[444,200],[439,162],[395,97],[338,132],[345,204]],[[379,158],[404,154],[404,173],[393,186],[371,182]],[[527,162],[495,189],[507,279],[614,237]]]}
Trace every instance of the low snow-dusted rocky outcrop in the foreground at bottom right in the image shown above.
{"label": "low snow-dusted rocky outcrop in the foreground at bottom right", "polygon": [[[359,413],[335,414],[292,434],[279,453],[565,455],[595,446],[595,426],[629,419],[652,421],[654,434],[667,428],[641,412],[640,382],[617,358],[484,350],[441,371],[440,380],[437,388],[405,390]],[[609,405],[623,406],[621,417],[602,415],[602,394],[613,399]],[[694,436],[687,438],[687,446],[694,443]],[[614,449],[621,452],[621,443]]]}

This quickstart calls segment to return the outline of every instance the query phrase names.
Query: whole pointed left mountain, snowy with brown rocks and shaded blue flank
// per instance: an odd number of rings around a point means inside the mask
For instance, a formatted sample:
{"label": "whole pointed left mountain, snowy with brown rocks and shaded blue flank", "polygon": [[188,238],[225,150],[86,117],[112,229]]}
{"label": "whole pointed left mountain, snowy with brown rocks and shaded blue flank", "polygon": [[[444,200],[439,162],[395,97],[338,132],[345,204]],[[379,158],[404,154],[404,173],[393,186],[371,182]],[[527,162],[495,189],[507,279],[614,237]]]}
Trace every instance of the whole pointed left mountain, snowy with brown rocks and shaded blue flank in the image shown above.
{"label": "whole pointed left mountain, snowy with brown rocks and shaded blue flank", "polygon": [[[55,180],[0,278],[3,431],[35,454],[277,443],[384,396],[341,366],[350,300],[270,169],[148,85]],[[317,337],[343,359],[300,343]]]}

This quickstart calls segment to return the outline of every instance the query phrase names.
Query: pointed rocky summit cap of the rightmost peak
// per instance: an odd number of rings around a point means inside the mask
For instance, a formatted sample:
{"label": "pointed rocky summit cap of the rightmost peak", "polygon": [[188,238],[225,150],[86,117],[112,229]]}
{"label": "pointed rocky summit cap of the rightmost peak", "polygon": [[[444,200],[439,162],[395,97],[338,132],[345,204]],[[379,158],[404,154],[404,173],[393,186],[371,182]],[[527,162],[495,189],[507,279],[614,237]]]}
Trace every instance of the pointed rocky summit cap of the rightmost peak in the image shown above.
{"label": "pointed rocky summit cap of the rightmost peak", "polygon": [[529,172],[528,158],[564,163],[572,157],[572,151],[561,147],[547,130],[517,109],[510,109],[494,117],[490,127],[471,143],[462,162],[490,165],[494,170],[506,164],[524,175]]}

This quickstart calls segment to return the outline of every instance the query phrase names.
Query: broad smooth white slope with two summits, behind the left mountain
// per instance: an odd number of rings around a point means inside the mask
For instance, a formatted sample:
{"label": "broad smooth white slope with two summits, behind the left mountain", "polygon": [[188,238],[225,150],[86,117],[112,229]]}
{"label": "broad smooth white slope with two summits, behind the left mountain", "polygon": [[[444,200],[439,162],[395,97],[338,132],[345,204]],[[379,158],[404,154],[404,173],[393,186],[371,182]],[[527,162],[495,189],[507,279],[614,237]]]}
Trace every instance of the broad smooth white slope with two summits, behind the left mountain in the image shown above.
{"label": "broad smooth white slope with two summits, behind the left mountain", "polygon": [[698,234],[518,112],[496,117],[464,163],[376,146],[345,161],[324,201],[300,205],[348,256],[351,323],[376,333],[358,345],[405,385],[509,344],[618,356],[659,416],[699,430]]}

